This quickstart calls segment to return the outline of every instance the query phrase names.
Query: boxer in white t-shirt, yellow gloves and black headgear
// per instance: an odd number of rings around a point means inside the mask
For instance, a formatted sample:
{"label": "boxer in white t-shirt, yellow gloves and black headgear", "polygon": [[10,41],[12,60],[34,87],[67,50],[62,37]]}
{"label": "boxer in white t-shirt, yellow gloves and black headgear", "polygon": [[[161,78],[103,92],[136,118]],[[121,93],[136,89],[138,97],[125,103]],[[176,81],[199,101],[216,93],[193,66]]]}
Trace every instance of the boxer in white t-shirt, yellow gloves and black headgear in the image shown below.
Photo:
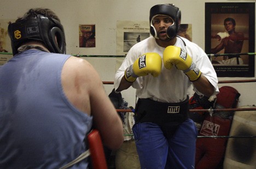
{"label": "boxer in white t-shirt, yellow gloves and black headgear", "polygon": [[177,36],[179,8],[154,5],[149,23],[152,36],[128,51],[115,73],[115,92],[136,89],[132,131],[141,168],[195,168],[197,129],[188,118],[188,89],[193,84],[198,95],[215,95],[217,75],[198,45]]}

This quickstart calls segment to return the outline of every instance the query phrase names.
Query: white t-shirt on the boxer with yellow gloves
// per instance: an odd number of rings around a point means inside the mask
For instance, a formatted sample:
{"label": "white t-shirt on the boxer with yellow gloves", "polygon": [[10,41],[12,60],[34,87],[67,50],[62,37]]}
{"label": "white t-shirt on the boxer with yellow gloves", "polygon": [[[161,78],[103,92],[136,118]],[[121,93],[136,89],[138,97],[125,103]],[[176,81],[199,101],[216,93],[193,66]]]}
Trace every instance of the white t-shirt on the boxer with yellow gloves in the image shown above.
{"label": "white t-shirt on the boxer with yellow gloves", "polygon": [[[214,95],[218,94],[217,74],[206,53],[197,44],[182,37],[177,37],[174,46],[187,51],[202,74],[214,86]],[[132,65],[139,56],[145,53],[158,53],[162,57],[164,49],[156,43],[154,37],[149,37],[133,45],[115,74],[115,90],[117,90],[121,78],[124,76],[125,69]],[[188,88],[191,84],[188,77],[182,71],[178,70],[175,66],[171,69],[166,69],[164,63],[162,63],[161,74],[158,77],[153,77],[151,74],[138,77],[133,82],[132,87],[136,89],[138,98],[151,98],[159,102],[177,103],[187,98]],[[197,94],[202,95],[196,89],[194,90]]]}

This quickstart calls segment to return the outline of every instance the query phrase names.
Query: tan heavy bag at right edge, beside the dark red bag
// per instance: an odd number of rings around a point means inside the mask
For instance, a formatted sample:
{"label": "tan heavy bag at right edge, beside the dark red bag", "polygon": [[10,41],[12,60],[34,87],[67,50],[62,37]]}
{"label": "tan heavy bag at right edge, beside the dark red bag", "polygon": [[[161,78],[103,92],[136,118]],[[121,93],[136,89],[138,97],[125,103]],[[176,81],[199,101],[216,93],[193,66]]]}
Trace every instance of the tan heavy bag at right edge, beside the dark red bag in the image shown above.
{"label": "tan heavy bag at right edge, beside the dark red bag", "polygon": [[[251,108],[255,106],[242,106]],[[230,136],[256,136],[256,110],[234,114]],[[226,146],[224,168],[256,168],[256,138],[230,138]]]}

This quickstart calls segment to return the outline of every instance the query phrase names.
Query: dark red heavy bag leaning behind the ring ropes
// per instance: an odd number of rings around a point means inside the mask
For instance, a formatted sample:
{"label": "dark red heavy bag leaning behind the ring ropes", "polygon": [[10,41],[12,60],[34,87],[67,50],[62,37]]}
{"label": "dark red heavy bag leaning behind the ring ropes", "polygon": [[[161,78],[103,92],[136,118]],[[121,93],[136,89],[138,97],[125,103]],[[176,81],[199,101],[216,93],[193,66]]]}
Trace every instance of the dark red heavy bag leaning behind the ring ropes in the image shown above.
{"label": "dark red heavy bag leaning behind the ring ropes", "polygon": [[[240,93],[231,86],[219,88],[214,109],[236,108]],[[229,136],[234,112],[215,111],[203,120],[199,136]],[[228,138],[199,138],[196,141],[196,168],[217,168],[223,165]]]}

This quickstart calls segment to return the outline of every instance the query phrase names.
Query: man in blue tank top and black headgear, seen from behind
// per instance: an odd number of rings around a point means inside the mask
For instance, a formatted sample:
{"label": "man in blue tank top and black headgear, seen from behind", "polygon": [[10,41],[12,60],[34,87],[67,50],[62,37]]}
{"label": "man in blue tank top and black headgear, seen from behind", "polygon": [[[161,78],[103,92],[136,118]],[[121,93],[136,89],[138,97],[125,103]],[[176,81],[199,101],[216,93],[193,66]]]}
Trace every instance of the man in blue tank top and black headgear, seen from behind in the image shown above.
{"label": "man in blue tank top and black headgear, seen from behind", "polygon": [[60,168],[90,148],[91,129],[118,149],[121,120],[90,63],[65,54],[53,11],[31,9],[8,32],[14,57],[0,67],[0,168]]}

